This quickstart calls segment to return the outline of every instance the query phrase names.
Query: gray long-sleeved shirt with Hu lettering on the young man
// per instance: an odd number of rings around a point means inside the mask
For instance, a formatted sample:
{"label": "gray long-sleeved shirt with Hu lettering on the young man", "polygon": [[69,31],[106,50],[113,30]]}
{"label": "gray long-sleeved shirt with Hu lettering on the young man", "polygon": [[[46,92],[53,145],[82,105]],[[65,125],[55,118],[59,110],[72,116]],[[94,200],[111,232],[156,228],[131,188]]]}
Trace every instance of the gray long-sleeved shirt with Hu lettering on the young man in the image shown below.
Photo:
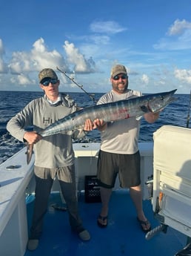
{"label": "gray long-sleeved shirt with Hu lettering on the young man", "polygon": [[[59,97],[60,101],[56,105],[51,105],[46,96],[34,99],[10,119],[7,123],[7,131],[16,139],[24,141],[27,127],[33,125],[33,130],[38,133],[41,129],[78,109],[70,96],[60,93]],[[35,165],[46,168],[73,165],[72,137],[84,137],[84,132],[75,131],[73,134],[59,133],[42,137],[42,140],[34,145]]]}

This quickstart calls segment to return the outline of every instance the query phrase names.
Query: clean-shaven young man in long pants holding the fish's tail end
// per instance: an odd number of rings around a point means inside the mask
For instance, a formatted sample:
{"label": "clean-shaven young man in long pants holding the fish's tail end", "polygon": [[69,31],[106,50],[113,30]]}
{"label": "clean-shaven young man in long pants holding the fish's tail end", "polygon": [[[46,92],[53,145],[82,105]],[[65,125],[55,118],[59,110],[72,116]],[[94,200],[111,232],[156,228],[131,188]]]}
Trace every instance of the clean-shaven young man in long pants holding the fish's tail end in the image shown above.
{"label": "clean-shaven young man in long pants holding the fish's tail end", "polygon": [[[30,239],[27,249],[34,250],[38,246],[41,236],[43,217],[47,211],[47,203],[53,179],[57,175],[61,192],[67,203],[71,229],[78,234],[81,240],[90,240],[90,234],[84,229],[78,215],[76,199],[76,180],[74,167],[73,137],[84,137],[88,131],[87,122],[84,131],[75,131],[72,135],[67,133],[54,134],[41,137],[38,131],[46,128],[58,119],[78,110],[73,99],[64,93],[58,92],[60,81],[56,72],[44,68],[38,74],[39,84],[44,96],[34,99],[22,111],[7,123],[7,130],[16,139],[34,144],[36,178],[36,200],[33,211],[33,222],[30,229]],[[27,126],[33,125],[34,131],[26,131]]]}

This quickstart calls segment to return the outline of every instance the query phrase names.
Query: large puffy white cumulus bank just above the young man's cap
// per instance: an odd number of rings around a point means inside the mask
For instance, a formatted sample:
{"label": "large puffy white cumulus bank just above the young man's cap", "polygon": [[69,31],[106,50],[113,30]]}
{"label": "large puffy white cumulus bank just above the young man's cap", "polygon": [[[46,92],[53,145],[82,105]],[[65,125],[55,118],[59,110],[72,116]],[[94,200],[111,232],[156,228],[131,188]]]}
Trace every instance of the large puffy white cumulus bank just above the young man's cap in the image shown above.
{"label": "large puffy white cumulus bank just above the young man's cap", "polygon": [[57,50],[48,50],[44,44],[44,39],[40,38],[33,44],[29,52],[14,52],[10,60],[10,72],[21,74],[31,71],[39,71],[44,67],[55,69],[64,68],[70,72],[70,65],[74,66],[77,73],[94,72],[95,62],[90,57],[86,59],[72,43],[64,42],[66,57],[58,53]]}

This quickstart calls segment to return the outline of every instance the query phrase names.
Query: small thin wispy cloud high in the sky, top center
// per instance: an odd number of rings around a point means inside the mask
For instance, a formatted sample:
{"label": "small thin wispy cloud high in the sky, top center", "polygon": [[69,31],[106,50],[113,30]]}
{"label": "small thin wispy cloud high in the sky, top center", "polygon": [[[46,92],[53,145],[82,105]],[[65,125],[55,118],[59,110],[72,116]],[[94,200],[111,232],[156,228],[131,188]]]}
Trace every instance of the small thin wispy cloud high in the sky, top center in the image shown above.
{"label": "small thin wispy cloud high in the sky, top center", "polygon": [[125,27],[121,27],[117,22],[107,21],[107,22],[93,22],[90,24],[90,30],[93,33],[107,33],[115,34],[121,33],[124,30],[127,30]]}

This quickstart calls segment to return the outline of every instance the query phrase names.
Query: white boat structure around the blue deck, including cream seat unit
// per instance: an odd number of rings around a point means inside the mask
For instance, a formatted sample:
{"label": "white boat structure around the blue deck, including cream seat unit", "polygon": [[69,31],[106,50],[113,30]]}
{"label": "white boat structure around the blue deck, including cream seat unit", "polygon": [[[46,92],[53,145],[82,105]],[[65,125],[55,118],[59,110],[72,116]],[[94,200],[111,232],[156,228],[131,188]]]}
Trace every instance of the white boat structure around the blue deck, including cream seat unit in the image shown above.
{"label": "white boat structure around the blue deck, including cream seat unit", "polygon": [[[191,130],[163,127],[153,142],[139,143],[141,186],[144,200],[151,195],[153,212],[167,226],[191,237]],[[154,154],[153,154],[154,146]],[[85,176],[96,175],[99,143],[75,143],[76,188],[84,191]],[[28,240],[26,196],[35,191],[34,155],[27,165],[26,148],[0,165],[0,248],[1,255],[23,256]],[[154,165],[153,165],[154,159]],[[153,172],[154,170],[154,172]],[[153,177],[154,174],[154,177]],[[153,179],[153,194],[145,183]],[[118,181],[115,190],[120,190]],[[60,191],[58,180],[52,191]],[[160,192],[164,193],[156,212]],[[10,246],[11,240],[11,246]]]}

